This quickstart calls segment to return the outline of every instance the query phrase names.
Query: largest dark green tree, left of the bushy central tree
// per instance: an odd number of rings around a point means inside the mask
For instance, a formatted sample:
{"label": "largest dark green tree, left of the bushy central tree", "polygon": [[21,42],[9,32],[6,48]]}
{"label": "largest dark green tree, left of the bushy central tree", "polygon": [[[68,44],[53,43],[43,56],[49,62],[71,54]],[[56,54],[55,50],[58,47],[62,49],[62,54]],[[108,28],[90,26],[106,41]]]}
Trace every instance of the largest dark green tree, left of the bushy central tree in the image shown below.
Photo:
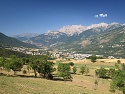
{"label": "largest dark green tree, left of the bushy central tree", "polygon": [[43,57],[36,57],[33,56],[31,58],[30,66],[34,70],[35,78],[37,77],[37,72],[40,74],[43,78],[52,79],[51,72],[54,71],[53,69],[53,62],[48,61],[48,58],[46,56]]}

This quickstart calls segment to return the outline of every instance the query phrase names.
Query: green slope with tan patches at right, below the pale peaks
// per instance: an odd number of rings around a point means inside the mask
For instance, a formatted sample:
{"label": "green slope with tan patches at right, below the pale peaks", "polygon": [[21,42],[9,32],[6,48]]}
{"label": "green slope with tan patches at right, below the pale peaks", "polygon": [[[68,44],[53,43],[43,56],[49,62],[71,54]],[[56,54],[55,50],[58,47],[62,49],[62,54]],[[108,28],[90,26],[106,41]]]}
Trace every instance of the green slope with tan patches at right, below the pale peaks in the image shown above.
{"label": "green slope with tan patches at right, below the pale peaks", "polygon": [[77,53],[102,54],[125,58],[125,26],[74,42],[56,45],[55,48],[68,49]]}

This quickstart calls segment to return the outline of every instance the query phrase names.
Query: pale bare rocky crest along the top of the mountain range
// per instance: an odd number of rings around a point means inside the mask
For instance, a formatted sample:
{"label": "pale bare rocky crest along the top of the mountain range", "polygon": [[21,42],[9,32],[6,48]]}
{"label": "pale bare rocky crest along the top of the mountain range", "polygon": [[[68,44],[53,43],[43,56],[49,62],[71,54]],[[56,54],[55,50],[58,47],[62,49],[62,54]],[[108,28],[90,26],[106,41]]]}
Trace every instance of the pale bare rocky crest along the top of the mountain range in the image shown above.
{"label": "pale bare rocky crest along the top of the mountain range", "polygon": [[[90,26],[82,26],[82,25],[68,25],[68,26],[63,26],[61,29],[56,30],[56,31],[52,31],[49,30],[48,32],[46,32],[44,35],[57,35],[59,33],[65,33],[68,36],[72,36],[74,34],[80,34],[82,32],[84,32],[85,30],[89,30],[89,29],[96,29],[98,30],[98,28],[102,28],[103,30],[105,30],[106,28],[112,26],[112,25],[120,25],[119,23],[113,22],[111,24],[107,24],[107,23],[99,23],[99,24],[92,24]],[[124,24],[125,25],[125,24]]]}

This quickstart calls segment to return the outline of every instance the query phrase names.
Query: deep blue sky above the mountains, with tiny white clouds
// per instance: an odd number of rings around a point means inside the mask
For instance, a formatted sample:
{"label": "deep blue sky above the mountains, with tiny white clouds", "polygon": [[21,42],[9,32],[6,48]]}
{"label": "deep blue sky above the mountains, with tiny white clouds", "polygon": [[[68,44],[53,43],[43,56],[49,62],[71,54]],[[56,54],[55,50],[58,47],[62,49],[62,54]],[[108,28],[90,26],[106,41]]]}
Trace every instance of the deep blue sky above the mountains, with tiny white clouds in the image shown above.
{"label": "deep blue sky above the mountains, with tiny white clouds", "polygon": [[125,23],[124,0],[0,0],[0,32],[42,34],[67,25]]}

